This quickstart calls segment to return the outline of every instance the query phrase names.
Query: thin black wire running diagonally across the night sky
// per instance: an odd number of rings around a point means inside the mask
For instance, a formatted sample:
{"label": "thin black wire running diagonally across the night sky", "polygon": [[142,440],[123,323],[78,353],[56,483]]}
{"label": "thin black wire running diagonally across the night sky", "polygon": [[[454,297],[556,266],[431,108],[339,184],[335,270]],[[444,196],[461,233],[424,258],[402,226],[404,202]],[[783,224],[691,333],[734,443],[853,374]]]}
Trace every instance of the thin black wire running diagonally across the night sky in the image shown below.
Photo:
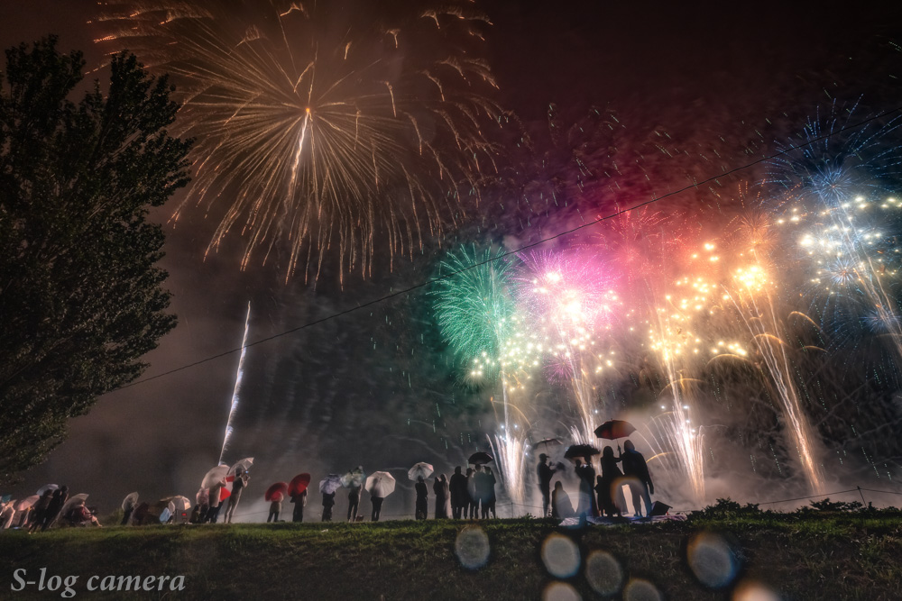
{"label": "thin black wire running diagonally across the night sky", "polygon": [[[819,137],[817,137],[817,138],[813,138],[812,140],[806,141],[804,144],[799,144],[798,146],[792,146],[792,145],[790,145],[789,148],[787,148],[786,150],[780,150],[780,151],[778,151],[778,152],[776,152],[776,153],[774,153],[774,154],[772,154],[772,155],[769,155],[769,156],[767,156],[767,157],[762,157],[762,158],[760,158],[760,159],[753,160],[753,161],[751,161],[750,163],[747,163],[747,164],[745,164],[745,165],[742,165],[741,167],[732,168],[732,169],[730,169],[730,170],[728,170],[728,171],[724,171],[723,173],[721,173],[721,174],[719,174],[719,175],[713,176],[713,177],[711,177],[711,178],[703,179],[703,180],[700,181],[700,182],[695,182],[695,183],[693,183],[693,184],[691,184],[691,185],[689,185],[689,186],[682,187],[682,188],[680,188],[680,189],[678,189],[678,190],[674,190],[674,191],[672,191],[672,192],[668,192],[667,194],[665,194],[665,195],[663,195],[663,196],[656,196],[656,197],[654,197],[654,198],[652,198],[652,199],[650,199],[650,200],[647,200],[647,201],[644,201],[644,202],[640,203],[639,205],[630,206],[630,208],[622,209],[622,210],[616,211],[616,212],[614,212],[614,213],[612,213],[612,214],[607,214],[607,215],[604,215],[604,216],[602,216],[602,217],[598,217],[598,218],[595,219],[594,221],[591,221],[591,222],[589,222],[589,223],[583,223],[582,225],[577,225],[576,227],[571,228],[571,229],[569,229],[569,230],[565,230],[564,232],[558,232],[558,233],[554,234],[553,236],[549,236],[548,238],[543,238],[543,239],[541,239],[541,240],[539,240],[539,241],[535,241],[535,242],[531,242],[531,243],[529,243],[529,244],[525,244],[525,245],[521,246],[519,249],[516,249],[516,250],[509,250],[509,251],[504,252],[504,253],[502,253],[502,254],[496,256],[496,257],[492,257],[492,259],[487,259],[487,260],[480,261],[480,262],[478,262],[478,263],[474,263],[473,265],[470,265],[469,267],[465,267],[465,268],[463,268],[463,269],[457,269],[456,271],[452,271],[452,272],[450,272],[450,273],[447,273],[447,274],[445,274],[444,276],[438,276],[437,278],[428,279],[428,280],[426,280],[426,281],[424,281],[424,282],[420,282],[419,284],[416,284],[416,285],[414,285],[414,286],[407,287],[407,288],[402,288],[402,289],[398,290],[397,292],[392,292],[391,294],[388,294],[388,295],[385,295],[385,296],[379,296],[378,298],[374,298],[373,300],[368,301],[368,302],[364,303],[363,305],[357,305],[357,306],[351,307],[351,308],[349,308],[349,309],[345,309],[344,311],[340,311],[340,312],[335,313],[335,314],[329,314],[329,315],[327,315],[326,317],[322,317],[322,318],[320,318],[320,319],[318,319],[318,320],[315,320],[315,321],[312,321],[312,322],[304,323],[303,325],[299,325],[299,326],[296,327],[296,328],[291,328],[290,330],[285,330],[284,332],[280,332],[280,333],[277,333],[277,334],[272,334],[272,336],[267,336],[266,338],[262,338],[262,339],[260,339],[260,340],[258,340],[258,341],[249,342],[248,344],[244,345],[243,347],[238,347],[237,349],[232,349],[232,350],[230,350],[230,351],[220,352],[220,353],[218,353],[218,354],[216,354],[216,355],[212,355],[212,356],[210,356],[210,357],[207,357],[206,359],[197,360],[197,361],[194,361],[193,363],[188,363],[188,364],[183,365],[183,366],[181,366],[181,367],[178,367],[178,368],[175,368],[175,369],[170,369],[169,371],[164,371],[164,372],[162,372],[161,374],[157,374],[156,376],[151,376],[150,378],[143,378],[143,379],[137,380],[137,381],[135,381],[135,382],[132,382],[132,383],[130,383],[130,384],[125,384],[125,385],[123,385],[123,386],[121,386],[121,387],[113,388],[113,389],[110,390],[109,392],[115,392],[115,391],[117,391],[117,390],[122,390],[122,389],[124,389],[124,388],[130,388],[130,387],[133,387],[133,386],[138,386],[139,384],[144,384],[145,382],[150,382],[151,380],[154,380],[154,379],[157,379],[157,378],[163,378],[163,377],[165,377],[165,376],[170,376],[171,374],[178,373],[179,371],[183,371],[183,370],[185,370],[185,369],[190,369],[190,368],[193,368],[193,367],[197,367],[198,365],[202,365],[202,364],[207,363],[207,362],[212,361],[212,360],[221,359],[221,358],[226,357],[226,356],[228,356],[228,355],[231,355],[231,354],[233,354],[233,353],[235,353],[235,352],[242,351],[243,349],[250,348],[250,347],[256,346],[256,345],[258,345],[258,344],[262,344],[263,342],[272,341],[272,340],[275,340],[276,338],[281,338],[282,336],[287,336],[288,334],[291,334],[291,333],[294,333],[294,332],[299,332],[299,331],[301,331],[301,330],[305,330],[305,329],[307,329],[307,328],[313,327],[314,325],[318,325],[319,323],[324,323],[324,322],[327,322],[327,321],[329,321],[329,320],[336,319],[337,317],[342,317],[343,315],[351,314],[351,313],[354,313],[354,312],[356,312],[356,311],[360,311],[361,309],[365,309],[365,308],[368,307],[368,306],[377,305],[377,304],[379,304],[379,303],[382,303],[383,301],[391,300],[391,298],[394,298],[394,297],[396,297],[396,296],[406,295],[406,294],[408,294],[408,293],[410,293],[410,292],[413,292],[414,290],[418,290],[419,288],[430,286],[430,285],[435,284],[436,282],[439,282],[439,281],[441,281],[441,280],[443,280],[443,279],[453,278],[453,277],[455,277],[456,275],[461,274],[461,273],[464,273],[465,271],[468,271],[468,270],[470,270],[470,269],[475,269],[475,268],[477,268],[477,267],[482,267],[483,265],[486,265],[486,264],[488,264],[488,263],[492,263],[492,262],[494,262],[494,261],[496,261],[496,260],[504,259],[505,257],[509,257],[509,256],[511,256],[511,255],[513,255],[513,254],[517,254],[517,253],[519,253],[519,252],[522,252],[523,250],[531,249],[531,248],[536,247],[536,246],[538,246],[538,245],[540,245],[540,244],[544,244],[544,243],[546,243],[546,242],[548,242],[548,241],[557,240],[558,238],[563,238],[564,236],[567,236],[567,235],[569,235],[569,234],[571,234],[571,233],[573,233],[573,232],[578,232],[578,231],[580,231],[580,230],[584,230],[584,229],[587,228],[587,227],[591,227],[591,226],[593,226],[593,225],[597,225],[598,223],[602,223],[602,222],[607,221],[607,220],[609,220],[609,219],[613,219],[614,217],[618,217],[618,216],[620,216],[621,214],[630,213],[630,211],[635,211],[636,209],[639,209],[639,208],[641,208],[641,207],[643,207],[643,206],[653,205],[653,204],[655,204],[655,203],[657,203],[657,202],[659,202],[659,201],[661,201],[661,200],[664,200],[665,198],[668,198],[668,197],[670,197],[670,196],[676,196],[676,195],[678,195],[678,194],[682,194],[683,192],[686,192],[686,190],[689,190],[689,189],[691,189],[691,188],[703,186],[704,184],[708,184],[708,183],[710,183],[710,182],[713,182],[715,179],[724,178],[724,177],[730,176],[730,175],[732,175],[732,174],[734,174],[734,173],[738,173],[739,171],[742,171],[742,170],[745,170],[745,169],[747,169],[747,168],[750,168],[750,167],[753,167],[753,166],[755,166],[755,165],[758,165],[759,163],[763,163],[763,162],[768,161],[768,160],[776,159],[776,158],[781,157],[781,156],[783,156],[783,155],[785,155],[785,154],[788,154],[788,153],[789,153],[790,151],[792,151],[792,150],[798,150],[798,149],[804,148],[805,146],[809,146],[809,145],[815,143],[816,141],[826,140],[826,139],[828,139],[828,138],[830,138],[830,137],[832,137],[832,136],[834,136],[834,135],[837,135],[837,134],[839,134],[839,133],[847,132],[847,131],[850,131],[850,130],[859,128],[859,127],[861,127],[862,125],[865,125],[865,124],[870,123],[870,122],[872,122],[872,121],[876,121],[877,119],[880,119],[880,118],[882,118],[882,117],[886,117],[886,116],[888,116],[888,115],[890,115],[890,114],[898,113],[899,111],[902,111],[902,106],[898,106],[897,108],[894,108],[894,109],[892,109],[892,110],[888,110],[888,111],[885,111],[885,112],[883,112],[883,113],[876,114],[876,115],[874,115],[874,116],[872,116],[872,117],[869,117],[868,119],[865,119],[864,121],[860,121],[860,122],[854,123],[854,124],[852,124],[852,125],[847,125],[847,126],[842,127],[841,129],[839,129],[839,130],[837,130],[837,131],[835,131],[835,132],[826,133],[826,134],[824,134],[823,136],[819,136]],[[107,393],[107,394],[108,394],[108,393]]]}

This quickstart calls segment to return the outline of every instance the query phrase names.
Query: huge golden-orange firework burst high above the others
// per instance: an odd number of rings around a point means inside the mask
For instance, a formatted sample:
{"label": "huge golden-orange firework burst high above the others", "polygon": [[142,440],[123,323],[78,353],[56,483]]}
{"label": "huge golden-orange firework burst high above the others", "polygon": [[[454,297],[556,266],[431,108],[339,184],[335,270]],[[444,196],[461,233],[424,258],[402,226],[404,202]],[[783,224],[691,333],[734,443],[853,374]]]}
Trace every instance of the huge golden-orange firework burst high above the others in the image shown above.
{"label": "huge golden-orange firework burst high above the others", "polygon": [[[465,210],[500,112],[464,3],[120,0],[98,42],[171,74],[196,139],[186,202],[221,214],[207,251],[245,238],[242,267],[287,247],[288,275],[335,245],[340,274],[410,254]],[[491,123],[490,123],[491,122]],[[173,219],[178,220],[185,205]]]}

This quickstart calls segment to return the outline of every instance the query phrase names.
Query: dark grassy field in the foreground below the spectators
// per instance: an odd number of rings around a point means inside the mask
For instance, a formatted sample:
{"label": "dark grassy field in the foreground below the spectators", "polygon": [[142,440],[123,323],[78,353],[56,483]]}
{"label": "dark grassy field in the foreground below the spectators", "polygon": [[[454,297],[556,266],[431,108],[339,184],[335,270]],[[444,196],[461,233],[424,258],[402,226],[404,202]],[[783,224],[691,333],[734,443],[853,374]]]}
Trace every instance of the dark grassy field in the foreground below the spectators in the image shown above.
{"label": "dark grassy field in the foreground below the spectators", "polygon": [[[902,514],[887,511],[582,529],[535,519],[63,529],[0,534],[0,598],[60,598],[64,582],[46,590],[57,575],[78,576],[75,596],[91,599],[899,599],[900,558]],[[35,584],[14,590],[14,573]],[[90,591],[95,575],[96,587],[107,575],[182,575],[184,590]],[[755,587],[776,596],[750,596]]]}

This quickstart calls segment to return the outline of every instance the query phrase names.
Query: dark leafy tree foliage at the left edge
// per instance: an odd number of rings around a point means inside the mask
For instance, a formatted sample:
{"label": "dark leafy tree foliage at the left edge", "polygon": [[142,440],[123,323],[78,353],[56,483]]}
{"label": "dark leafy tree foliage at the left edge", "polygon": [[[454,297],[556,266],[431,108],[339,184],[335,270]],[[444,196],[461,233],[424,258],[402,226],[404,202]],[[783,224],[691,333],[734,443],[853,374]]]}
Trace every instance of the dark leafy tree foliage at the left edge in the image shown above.
{"label": "dark leafy tree foliage at the left edge", "polygon": [[190,141],[166,132],[179,105],[126,54],[72,102],[83,66],[51,37],[7,50],[0,77],[0,481],[176,323],[147,214],[189,181]]}

